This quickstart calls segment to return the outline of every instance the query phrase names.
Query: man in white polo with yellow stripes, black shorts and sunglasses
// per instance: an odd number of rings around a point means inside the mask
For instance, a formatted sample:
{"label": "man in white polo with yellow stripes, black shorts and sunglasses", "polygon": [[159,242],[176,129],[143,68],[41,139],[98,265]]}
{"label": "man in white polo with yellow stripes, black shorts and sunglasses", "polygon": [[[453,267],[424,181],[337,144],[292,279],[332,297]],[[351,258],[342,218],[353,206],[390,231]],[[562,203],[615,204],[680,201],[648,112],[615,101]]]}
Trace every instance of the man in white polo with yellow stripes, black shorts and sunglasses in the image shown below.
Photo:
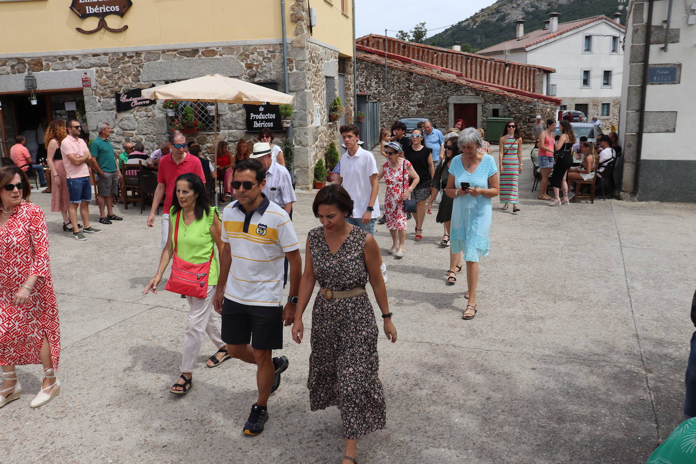
{"label": "man in white polo with yellow stripes, black shorts and sunglasses", "polygon": [[[261,163],[239,161],[233,176],[237,201],[222,214],[224,246],[214,307],[222,314],[222,339],[230,356],[257,366],[258,400],[243,431],[258,435],[269,417],[268,397],[289,364],[285,356],[271,358],[271,350],[283,348],[283,321],[289,326],[294,319],[302,258],[290,216],[262,193],[266,170]],[[285,308],[283,257],[290,262]]]}

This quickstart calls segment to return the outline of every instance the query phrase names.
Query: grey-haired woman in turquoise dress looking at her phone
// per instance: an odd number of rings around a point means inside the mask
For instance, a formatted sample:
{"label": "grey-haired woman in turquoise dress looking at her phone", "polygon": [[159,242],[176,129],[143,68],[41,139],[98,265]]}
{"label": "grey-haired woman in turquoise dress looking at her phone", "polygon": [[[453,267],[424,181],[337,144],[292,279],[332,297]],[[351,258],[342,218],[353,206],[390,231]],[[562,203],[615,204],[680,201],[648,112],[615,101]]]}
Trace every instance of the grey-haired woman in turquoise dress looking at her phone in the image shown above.
{"label": "grey-haired woman in turquoise dress looking at her phone", "polygon": [[478,131],[467,127],[457,141],[461,154],[450,163],[450,178],[445,189],[445,193],[454,198],[450,225],[453,256],[450,259],[457,259],[458,253],[464,253],[468,284],[464,298],[468,298],[468,304],[461,318],[473,319],[477,311],[478,264],[490,248],[491,198],[498,196],[500,189],[496,160],[482,150],[483,141]]}

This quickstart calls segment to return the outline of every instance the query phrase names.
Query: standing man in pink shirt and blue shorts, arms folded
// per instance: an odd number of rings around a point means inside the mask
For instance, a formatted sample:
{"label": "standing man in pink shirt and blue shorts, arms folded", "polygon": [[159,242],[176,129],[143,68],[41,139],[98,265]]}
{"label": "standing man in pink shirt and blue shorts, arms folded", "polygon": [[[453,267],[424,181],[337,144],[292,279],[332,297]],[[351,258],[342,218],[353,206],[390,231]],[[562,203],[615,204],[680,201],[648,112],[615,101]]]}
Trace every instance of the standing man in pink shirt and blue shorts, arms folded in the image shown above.
{"label": "standing man in pink shirt and blue shorts, arms folded", "polygon": [[[89,163],[92,159],[89,148],[84,140],[80,138],[80,123],[76,119],[65,122],[65,129],[68,136],[61,142],[61,153],[63,154],[63,164],[65,165],[65,177],[68,182],[68,195],[70,195],[70,209],[68,217],[72,223],[72,238],[84,241],[84,234],[98,234],[101,229],[95,229],[89,225],[89,202],[92,200],[92,185],[89,179]],[[68,162],[65,162],[65,160]],[[83,229],[77,227],[77,207],[80,207],[80,216]],[[84,232],[84,233],[83,233]]]}

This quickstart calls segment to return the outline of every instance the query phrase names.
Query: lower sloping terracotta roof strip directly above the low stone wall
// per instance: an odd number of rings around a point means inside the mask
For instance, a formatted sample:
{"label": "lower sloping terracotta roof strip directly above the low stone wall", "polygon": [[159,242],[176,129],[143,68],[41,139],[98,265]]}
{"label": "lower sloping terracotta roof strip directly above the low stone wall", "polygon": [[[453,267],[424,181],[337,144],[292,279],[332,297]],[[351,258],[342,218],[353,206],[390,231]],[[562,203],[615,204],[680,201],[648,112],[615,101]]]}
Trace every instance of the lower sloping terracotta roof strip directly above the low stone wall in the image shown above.
{"label": "lower sloping terracotta roof strip directly above the low stone wall", "polygon": [[[385,62],[383,57],[384,51],[382,50],[365,47],[363,45],[356,45],[356,58],[358,60],[383,65]],[[519,90],[512,87],[496,86],[487,82],[467,79],[463,77],[459,71],[413,60],[411,58],[407,58],[406,56],[387,53],[386,65],[387,67],[391,67],[393,69],[411,72],[413,74],[419,74],[425,77],[432,77],[433,79],[438,79],[440,81],[457,83],[461,86],[475,88],[476,90],[481,90],[482,92],[493,93],[503,97],[518,99],[523,102],[542,101],[544,103],[551,102],[556,105],[560,105],[561,103],[561,99],[549,97],[548,95],[541,95],[539,93],[526,92],[524,90]]]}

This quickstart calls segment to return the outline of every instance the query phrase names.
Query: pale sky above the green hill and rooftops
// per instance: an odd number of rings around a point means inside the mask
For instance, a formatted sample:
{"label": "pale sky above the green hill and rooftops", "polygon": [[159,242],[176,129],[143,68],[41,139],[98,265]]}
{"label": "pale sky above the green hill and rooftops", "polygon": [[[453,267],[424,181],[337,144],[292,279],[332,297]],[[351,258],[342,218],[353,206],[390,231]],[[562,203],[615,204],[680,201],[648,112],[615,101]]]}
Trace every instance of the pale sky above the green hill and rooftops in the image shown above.
{"label": "pale sky above the green hill and rooftops", "polygon": [[[428,29],[442,28],[460,22],[496,0],[355,0],[356,37],[370,33],[396,36],[393,31],[410,31],[419,22]],[[423,8],[427,5],[427,8]],[[427,37],[446,28],[429,31]]]}

